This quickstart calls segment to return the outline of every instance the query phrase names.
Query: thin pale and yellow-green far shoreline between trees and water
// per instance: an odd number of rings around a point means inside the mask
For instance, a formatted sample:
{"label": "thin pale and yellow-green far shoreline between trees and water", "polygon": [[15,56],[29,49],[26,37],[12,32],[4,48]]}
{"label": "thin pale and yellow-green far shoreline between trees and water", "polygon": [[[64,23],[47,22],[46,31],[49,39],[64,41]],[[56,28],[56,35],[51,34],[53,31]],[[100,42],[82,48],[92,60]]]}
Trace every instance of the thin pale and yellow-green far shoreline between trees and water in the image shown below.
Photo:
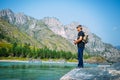
{"label": "thin pale and yellow-green far shoreline between trees and water", "polygon": [[[76,59],[32,59],[32,58],[20,58],[20,57],[0,57],[0,62],[46,62],[46,63],[75,63],[78,61]],[[106,61],[100,62],[99,60],[84,59],[84,63],[89,64],[111,64]]]}

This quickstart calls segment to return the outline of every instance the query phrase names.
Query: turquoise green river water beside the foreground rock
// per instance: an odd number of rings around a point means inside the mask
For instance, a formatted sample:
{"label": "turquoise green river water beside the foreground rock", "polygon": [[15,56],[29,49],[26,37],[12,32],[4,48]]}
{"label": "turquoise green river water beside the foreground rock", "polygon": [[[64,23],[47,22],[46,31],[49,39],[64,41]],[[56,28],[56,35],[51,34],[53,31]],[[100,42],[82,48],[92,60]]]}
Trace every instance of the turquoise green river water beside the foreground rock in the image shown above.
{"label": "turquoise green river water beside the foreground rock", "polygon": [[0,62],[0,80],[59,80],[76,65],[75,63]]}

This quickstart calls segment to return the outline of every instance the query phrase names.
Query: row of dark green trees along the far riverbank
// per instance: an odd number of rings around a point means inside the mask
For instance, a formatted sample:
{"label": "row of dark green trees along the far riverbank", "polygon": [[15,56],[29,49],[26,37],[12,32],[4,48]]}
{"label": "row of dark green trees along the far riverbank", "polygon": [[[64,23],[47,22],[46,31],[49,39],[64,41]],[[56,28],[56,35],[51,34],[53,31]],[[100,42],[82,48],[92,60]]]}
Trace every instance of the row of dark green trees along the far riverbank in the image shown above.
{"label": "row of dark green trees along the far riverbank", "polygon": [[51,50],[47,47],[36,48],[31,47],[29,43],[19,44],[13,43],[12,47],[1,47],[0,57],[22,57],[22,58],[50,58],[50,59],[76,59],[77,55],[63,50]]}

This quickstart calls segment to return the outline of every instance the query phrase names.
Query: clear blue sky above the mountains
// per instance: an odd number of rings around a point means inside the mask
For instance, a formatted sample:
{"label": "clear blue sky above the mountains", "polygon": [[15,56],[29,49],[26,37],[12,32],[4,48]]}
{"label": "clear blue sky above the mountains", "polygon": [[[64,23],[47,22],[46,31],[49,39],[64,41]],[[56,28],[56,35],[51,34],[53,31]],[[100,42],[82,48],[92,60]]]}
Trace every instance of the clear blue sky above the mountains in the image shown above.
{"label": "clear blue sky above the mountains", "polygon": [[64,25],[79,22],[103,42],[120,45],[120,0],[0,0],[11,9],[36,19],[56,17]]}

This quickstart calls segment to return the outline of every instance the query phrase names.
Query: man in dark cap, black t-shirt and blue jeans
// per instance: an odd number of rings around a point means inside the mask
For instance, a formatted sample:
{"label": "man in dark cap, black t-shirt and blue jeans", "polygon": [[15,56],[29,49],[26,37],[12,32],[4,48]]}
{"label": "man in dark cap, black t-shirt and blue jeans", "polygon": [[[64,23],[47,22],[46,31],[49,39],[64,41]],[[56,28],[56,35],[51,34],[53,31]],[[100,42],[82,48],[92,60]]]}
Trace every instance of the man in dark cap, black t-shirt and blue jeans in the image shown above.
{"label": "man in dark cap, black t-shirt and blue jeans", "polygon": [[76,29],[78,31],[78,37],[77,40],[74,40],[74,44],[77,44],[78,47],[78,68],[83,68],[83,50],[85,47],[85,43],[82,40],[85,35],[82,31],[82,25],[78,25]]}

